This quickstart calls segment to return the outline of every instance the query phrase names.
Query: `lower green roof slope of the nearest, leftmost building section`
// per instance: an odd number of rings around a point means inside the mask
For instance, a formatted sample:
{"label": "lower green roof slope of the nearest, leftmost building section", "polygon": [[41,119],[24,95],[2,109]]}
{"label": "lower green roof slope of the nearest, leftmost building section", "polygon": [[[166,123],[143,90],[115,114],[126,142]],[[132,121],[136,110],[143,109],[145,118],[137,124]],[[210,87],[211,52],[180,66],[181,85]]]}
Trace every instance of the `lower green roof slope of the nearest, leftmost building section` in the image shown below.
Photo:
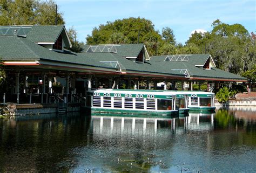
{"label": "lower green roof slope of the nearest, leftmost building section", "polygon": [[93,58],[84,58],[84,56],[81,56],[81,53],[50,51],[43,46],[32,43],[26,38],[17,36],[0,36],[0,57],[4,61],[46,60],[59,63],[113,68],[110,65],[99,63],[99,61]]}

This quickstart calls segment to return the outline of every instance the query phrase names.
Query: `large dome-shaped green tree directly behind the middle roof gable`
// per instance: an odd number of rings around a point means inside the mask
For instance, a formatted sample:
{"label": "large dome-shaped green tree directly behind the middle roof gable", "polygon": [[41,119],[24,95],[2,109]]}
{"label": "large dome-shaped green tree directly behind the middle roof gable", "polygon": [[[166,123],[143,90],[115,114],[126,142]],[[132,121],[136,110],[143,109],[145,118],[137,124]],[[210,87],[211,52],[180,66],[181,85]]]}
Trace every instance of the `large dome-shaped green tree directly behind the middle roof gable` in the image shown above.
{"label": "large dome-shaped green tree directly behind the middle roof gable", "polygon": [[144,43],[151,55],[159,54],[163,41],[159,32],[154,30],[153,23],[140,17],[107,22],[94,27],[92,34],[86,37],[86,44]]}

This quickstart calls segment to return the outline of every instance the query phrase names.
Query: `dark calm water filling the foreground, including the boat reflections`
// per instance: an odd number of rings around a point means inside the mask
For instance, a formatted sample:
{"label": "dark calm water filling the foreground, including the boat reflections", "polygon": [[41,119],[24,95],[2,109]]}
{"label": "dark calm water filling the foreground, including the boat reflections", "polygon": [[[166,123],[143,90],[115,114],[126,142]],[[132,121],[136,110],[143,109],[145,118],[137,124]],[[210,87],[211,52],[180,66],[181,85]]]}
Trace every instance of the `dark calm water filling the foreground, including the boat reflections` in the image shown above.
{"label": "dark calm water filling the foreground, including the boat reflections", "polygon": [[255,110],[0,119],[0,172],[255,172]]}

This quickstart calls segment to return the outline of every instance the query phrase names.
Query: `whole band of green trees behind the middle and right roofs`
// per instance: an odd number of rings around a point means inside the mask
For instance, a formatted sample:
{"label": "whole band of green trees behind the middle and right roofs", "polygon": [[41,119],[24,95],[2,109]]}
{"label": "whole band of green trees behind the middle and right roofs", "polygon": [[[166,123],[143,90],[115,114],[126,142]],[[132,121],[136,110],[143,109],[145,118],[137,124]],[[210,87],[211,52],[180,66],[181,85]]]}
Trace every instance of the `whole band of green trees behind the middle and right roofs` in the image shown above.
{"label": "whole band of green trees behind the middle and right roofs", "polygon": [[[241,24],[229,25],[219,19],[213,21],[212,31],[193,33],[185,45],[176,43],[169,26],[160,34],[150,20],[139,17],[99,25],[86,40],[86,44],[144,43],[150,56],[208,53],[217,68],[234,74],[252,70],[256,59],[255,34],[250,35]],[[250,72],[244,76],[251,79]]]}

